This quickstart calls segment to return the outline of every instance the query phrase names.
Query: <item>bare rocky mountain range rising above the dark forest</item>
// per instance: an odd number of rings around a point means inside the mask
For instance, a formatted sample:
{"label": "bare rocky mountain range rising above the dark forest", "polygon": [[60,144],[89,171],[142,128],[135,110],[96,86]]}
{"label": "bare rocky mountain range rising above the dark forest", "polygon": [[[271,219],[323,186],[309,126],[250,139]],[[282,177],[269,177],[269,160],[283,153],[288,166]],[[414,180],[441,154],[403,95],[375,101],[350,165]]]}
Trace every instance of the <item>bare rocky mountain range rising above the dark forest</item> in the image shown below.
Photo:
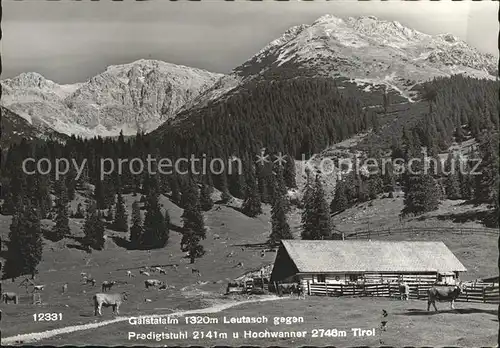
{"label": "bare rocky mountain range rising above the dark forest", "polygon": [[301,69],[351,82],[360,92],[385,88],[413,102],[424,81],[460,73],[495,79],[498,62],[451,34],[428,35],[373,16],[325,15],[288,29],[227,75],[156,60],[109,66],[70,85],[30,72],[1,81],[1,105],[42,133],[133,135],[235,93],[248,81]]}

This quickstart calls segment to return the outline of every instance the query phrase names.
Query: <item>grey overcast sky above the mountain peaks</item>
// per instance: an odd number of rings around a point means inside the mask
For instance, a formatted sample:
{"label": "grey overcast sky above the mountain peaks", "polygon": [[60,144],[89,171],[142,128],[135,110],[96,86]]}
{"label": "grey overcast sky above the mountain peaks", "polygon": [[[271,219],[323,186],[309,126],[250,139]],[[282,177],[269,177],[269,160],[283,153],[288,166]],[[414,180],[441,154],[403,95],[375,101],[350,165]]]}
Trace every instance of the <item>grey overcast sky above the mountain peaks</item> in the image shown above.
{"label": "grey overcast sky above the mountain peaks", "polygon": [[428,34],[452,33],[498,56],[498,2],[3,1],[2,78],[36,71],[83,82],[137,59],[227,73],[289,27],[324,14],[374,15]]}

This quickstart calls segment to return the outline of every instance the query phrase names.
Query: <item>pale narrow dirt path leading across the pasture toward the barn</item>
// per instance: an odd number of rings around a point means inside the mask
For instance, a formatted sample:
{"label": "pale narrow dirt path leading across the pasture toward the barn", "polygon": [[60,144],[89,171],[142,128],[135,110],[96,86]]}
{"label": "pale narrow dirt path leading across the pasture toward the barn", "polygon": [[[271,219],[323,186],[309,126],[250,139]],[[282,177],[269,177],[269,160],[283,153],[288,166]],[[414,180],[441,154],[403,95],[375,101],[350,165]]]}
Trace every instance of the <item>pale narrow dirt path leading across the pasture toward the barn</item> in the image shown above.
{"label": "pale narrow dirt path leading across the pasture toward the barn", "polygon": [[[286,297],[284,297],[286,298]],[[129,318],[132,317],[137,317],[137,318],[144,318],[144,317],[150,317],[150,316],[159,316],[159,317],[175,317],[175,316],[185,316],[185,315],[190,315],[190,314],[205,314],[205,313],[218,313],[223,310],[226,310],[231,307],[239,306],[241,304],[245,303],[252,303],[252,302],[264,302],[264,301],[274,301],[274,300],[279,300],[279,297],[265,297],[265,298],[260,298],[256,300],[246,300],[246,301],[233,301],[229,303],[220,303],[213,305],[212,307],[208,308],[200,308],[200,309],[193,309],[189,311],[180,311],[180,312],[174,312],[174,313],[169,313],[169,314],[151,314],[151,315],[140,315],[140,316],[128,316],[128,317],[116,317],[115,319],[111,320],[104,320],[100,321],[97,323],[90,323],[90,324],[83,324],[83,325],[73,325],[73,326],[66,326],[62,327],[59,329],[53,329],[53,330],[47,330],[47,331],[42,331],[42,332],[32,332],[32,333],[27,333],[27,334],[20,334],[16,336],[11,336],[11,337],[5,337],[2,338],[2,345],[12,345],[12,344],[26,344],[29,342],[34,342],[34,341],[40,341],[46,338],[58,336],[58,335],[63,335],[63,334],[68,334],[76,331],[84,331],[84,330],[92,330],[92,329],[97,329],[101,326],[106,326],[106,325],[111,325],[114,323],[119,323],[122,321],[127,321]]]}

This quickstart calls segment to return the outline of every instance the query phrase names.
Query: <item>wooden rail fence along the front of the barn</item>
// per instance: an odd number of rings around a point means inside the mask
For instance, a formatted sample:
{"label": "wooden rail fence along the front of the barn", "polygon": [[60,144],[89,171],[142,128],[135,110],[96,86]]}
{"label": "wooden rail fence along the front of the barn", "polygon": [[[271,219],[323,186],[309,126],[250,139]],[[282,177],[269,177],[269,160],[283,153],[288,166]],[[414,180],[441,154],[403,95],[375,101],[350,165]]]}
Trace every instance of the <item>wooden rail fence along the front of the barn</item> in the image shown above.
{"label": "wooden rail fence along the front of the barn", "polygon": [[[413,283],[410,287],[410,299],[427,299],[427,290],[432,283]],[[352,283],[328,284],[309,283],[307,293],[313,296],[376,296],[400,298],[398,283]],[[456,300],[458,302],[500,303],[498,283],[472,283],[464,288]]]}

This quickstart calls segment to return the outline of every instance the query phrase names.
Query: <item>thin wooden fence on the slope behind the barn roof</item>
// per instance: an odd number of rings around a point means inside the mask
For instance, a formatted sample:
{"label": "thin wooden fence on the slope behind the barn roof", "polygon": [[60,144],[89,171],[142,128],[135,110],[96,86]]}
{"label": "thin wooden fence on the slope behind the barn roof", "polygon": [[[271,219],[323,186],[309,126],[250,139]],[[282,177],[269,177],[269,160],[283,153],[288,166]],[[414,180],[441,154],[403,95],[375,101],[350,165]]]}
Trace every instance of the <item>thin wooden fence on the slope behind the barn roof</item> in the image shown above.
{"label": "thin wooden fence on the slope behind the barn roof", "polygon": [[418,235],[418,234],[436,234],[451,233],[457,235],[463,234],[482,234],[498,237],[497,228],[455,228],[455,227],[411,227],[411,228],[388,228],[382,230],[363,230],[354,232],[345,232],[345,239],[371,239],[375,237],[387,237],[391,235]]}

